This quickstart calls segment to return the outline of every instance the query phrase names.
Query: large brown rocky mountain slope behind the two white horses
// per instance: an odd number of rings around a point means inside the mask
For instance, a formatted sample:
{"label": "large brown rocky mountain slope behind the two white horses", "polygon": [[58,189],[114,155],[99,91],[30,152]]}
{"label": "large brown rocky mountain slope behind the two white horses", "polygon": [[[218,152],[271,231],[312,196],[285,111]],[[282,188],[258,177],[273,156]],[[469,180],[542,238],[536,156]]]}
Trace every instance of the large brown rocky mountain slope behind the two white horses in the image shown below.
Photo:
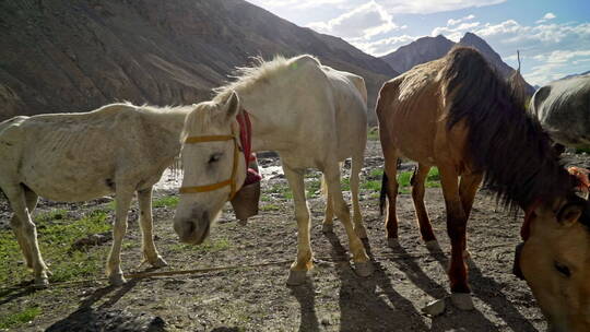
{"label": "large brown rocky mountain slope behind the two white horses", "polygon": [[363,75],[370,107],[397,75],[342,39],[243,0],[4,0],[0,27],[0,120],[122,99],[200,102],[252,56],[316,55]]}

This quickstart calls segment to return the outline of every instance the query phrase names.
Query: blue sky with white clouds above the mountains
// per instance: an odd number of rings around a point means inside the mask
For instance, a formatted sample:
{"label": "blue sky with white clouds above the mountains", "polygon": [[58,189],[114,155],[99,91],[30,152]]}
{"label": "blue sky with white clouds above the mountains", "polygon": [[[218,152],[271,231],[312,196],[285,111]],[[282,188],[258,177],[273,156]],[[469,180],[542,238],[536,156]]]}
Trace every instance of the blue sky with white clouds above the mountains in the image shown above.
{"label": "blue sky with white clouds above the mountains", "polygon": [[297,25],[374,55],[423,36],[483,37],[522,75],[543,85],[590,70],[590,0],[248,0]]}

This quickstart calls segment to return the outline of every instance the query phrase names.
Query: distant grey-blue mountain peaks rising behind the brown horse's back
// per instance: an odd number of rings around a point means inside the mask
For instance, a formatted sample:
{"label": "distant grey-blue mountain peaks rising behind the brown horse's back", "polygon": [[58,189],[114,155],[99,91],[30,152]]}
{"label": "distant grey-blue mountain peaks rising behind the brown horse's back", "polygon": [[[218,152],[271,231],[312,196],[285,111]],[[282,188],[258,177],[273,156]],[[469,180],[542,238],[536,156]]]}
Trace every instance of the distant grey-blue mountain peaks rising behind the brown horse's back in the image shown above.
{"label": "distant grey-blue mountain peaks rising behind the brown horse's back", "polygon": [[[456,44],[471,46],[480,50],[487,61],[489,61],[504,78],[510,76],[515,70],[506,64],[500,56],[484,39],[473,33],[467,33],[459,43],[453,43],[441,35],[436,37],[423,37],[400,47],[396,51],[381,57],[381,59],[389,63],[393,70],[405,72],[416,64],[441,58]],[[526,88],[529,95],[534,93],[534,87],[528,83]]]}

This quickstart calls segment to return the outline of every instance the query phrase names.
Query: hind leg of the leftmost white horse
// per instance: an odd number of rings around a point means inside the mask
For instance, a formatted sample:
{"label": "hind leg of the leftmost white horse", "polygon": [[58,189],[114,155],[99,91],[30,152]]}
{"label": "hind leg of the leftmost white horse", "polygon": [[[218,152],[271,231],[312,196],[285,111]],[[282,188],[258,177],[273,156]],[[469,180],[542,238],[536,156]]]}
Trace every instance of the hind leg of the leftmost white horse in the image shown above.
{"label": "hind leg of the leftmost white horse", "polygon": [[16,240],[21,246],[27,266],[33,268],[35,286],[46,287],[49,284],[47,277],[49,270],[43,261],[37,242],[37,228],[30,214],[30,210],[35,209],[37,204],[37,194],[31,190],[23,189],[20,185],[10,189],[4,188],[4,193],[14,211],[11,227],[14,235],[16,235]]}

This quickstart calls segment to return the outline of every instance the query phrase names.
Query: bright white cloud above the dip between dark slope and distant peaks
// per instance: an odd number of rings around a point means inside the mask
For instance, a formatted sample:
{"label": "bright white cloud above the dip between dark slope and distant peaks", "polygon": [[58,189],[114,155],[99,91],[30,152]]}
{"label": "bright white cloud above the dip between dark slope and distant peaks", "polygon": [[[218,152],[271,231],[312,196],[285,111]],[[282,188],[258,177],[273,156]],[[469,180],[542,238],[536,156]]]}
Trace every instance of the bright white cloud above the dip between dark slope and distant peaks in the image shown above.
{"label": "bright white cloud above the dip between dark slope and distant peaks", "polygon": [[331,34],[351,40],[370,39],[380,34],[399,28],[391,14],[376,1],[367,2],[328,22],[308,25],[320,33]]}

